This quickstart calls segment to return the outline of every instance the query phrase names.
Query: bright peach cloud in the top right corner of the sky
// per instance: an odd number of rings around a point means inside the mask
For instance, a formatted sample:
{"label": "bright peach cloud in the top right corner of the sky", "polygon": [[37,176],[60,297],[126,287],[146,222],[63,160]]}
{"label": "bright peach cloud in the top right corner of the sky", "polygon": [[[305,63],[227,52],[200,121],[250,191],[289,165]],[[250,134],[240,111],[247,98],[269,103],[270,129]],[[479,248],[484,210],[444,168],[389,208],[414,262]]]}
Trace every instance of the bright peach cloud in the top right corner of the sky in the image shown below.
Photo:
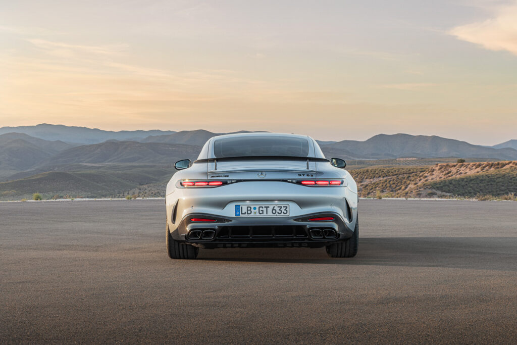
{"label": "bright peach cloud in the top right corner of the sky", "polygon": [[492,18],[454,27],[449,33],[485,49],[506,50],[517,55],[517,2],[493,11]]}

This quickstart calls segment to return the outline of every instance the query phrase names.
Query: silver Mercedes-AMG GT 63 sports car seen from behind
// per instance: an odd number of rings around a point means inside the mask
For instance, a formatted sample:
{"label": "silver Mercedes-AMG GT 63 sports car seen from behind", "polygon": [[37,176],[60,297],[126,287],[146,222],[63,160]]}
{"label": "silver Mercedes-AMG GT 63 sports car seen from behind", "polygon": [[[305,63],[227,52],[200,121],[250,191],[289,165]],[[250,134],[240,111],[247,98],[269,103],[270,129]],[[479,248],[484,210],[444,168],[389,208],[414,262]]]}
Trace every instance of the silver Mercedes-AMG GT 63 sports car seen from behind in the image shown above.
{"label": "silver Mercedes-AMG GT 63 sports car seen from behind", "polygon": [[197,160],[176,162],[167,185],[169,257],[234,247],[325,247],[330,257],[354,257],[357,184],[345,166],[307,136],[209,139]]}

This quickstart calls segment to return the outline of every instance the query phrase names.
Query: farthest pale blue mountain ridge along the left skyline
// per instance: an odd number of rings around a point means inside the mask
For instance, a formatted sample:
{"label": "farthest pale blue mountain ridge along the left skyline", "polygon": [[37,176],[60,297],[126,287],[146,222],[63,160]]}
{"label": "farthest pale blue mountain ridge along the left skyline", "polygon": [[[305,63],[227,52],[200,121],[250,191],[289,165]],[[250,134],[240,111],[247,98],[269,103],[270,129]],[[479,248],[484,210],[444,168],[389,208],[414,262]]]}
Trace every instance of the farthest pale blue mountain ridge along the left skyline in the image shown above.
{"label": "farthest pale blue mountain ridge along the left skyline", "polygon": [[70,143],[95,144],[106,140],[140,140],[148,136],[172,134],[174,131],[162,130],[122,130],[107,131],[97,128],[75,127],[64,125],[39,124],[36,126],[2,127],[0,134],[25,133],[29,136],[44,140],[61,140]]}

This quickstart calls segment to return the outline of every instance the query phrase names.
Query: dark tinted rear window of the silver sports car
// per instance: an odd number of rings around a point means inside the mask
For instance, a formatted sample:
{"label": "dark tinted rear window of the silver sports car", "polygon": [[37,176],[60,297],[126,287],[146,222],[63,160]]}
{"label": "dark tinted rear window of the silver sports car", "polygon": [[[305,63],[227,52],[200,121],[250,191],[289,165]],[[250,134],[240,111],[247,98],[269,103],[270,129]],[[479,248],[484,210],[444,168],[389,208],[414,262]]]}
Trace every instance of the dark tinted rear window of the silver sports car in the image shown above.
{"label": "dark tinted rear window of the silver sports car", "polygon": [[307,157],[309,141],[290,137],[238,137],[217,139],[214,142],[214,155],[222,157],[249,156],[295,156]]}

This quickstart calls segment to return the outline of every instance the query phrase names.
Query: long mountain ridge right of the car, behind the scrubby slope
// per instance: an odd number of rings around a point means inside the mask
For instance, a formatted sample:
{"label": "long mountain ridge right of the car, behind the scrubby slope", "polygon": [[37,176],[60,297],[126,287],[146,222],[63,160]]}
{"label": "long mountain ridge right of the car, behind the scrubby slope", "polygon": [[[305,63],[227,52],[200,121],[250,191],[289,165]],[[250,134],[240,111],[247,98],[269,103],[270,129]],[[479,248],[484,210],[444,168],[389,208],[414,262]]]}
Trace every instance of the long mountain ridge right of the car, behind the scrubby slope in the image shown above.
{"label": "long mountain ridge right of the car, behind the scrubby slope", "polygon": [[517,159],[513,148],[492,148],[437,136],[378,134],[366,141],[343,140],[324,145],[327,150],[346,150],[357,158],[387,159],[400,157],[477,157]]}

